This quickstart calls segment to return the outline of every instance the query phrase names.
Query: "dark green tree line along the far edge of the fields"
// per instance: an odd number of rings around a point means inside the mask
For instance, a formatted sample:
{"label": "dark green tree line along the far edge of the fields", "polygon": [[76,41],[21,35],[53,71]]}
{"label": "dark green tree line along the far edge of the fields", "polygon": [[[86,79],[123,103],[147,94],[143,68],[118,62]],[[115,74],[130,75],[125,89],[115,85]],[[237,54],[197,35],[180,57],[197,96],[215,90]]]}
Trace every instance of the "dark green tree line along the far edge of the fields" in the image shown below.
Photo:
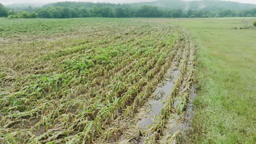
{"label": "dark green tree line along the far edge of the fields", "polygon": [[[85,7],[86,5],[88,7]],[[42,8],[29,7],[25,10],[8,10],[0,4],[0,17],[10,18],[72,18],[72,17],[256,17],[256,9],[244,10],[182,10],[159,9],[158,7],[144,5],[133,8],[127,4],[59,2],[45,5]],[[10,16],[11,15],[11,16]],[[31,17],[30,17],[31,16]]]}

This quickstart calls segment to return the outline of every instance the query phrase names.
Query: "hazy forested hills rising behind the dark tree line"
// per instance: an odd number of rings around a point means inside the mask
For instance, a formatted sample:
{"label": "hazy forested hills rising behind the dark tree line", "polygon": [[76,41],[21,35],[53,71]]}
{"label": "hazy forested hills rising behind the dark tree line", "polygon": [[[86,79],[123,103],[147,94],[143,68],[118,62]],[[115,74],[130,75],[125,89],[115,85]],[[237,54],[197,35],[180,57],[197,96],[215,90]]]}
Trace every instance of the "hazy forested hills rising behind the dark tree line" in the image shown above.
{"label": "hazy forested hills rising behind the dark tree line", "polygon": [[[256,1],[256,0],[255,0]],[[238,2],[229,2],[229,1],[220,1],[220,0],[201,0],[201,1],[183,1],[183,0],[156,0],[153,2],[139,2],[139,3],[130,3],[130,4],[121,4],[123,7],[129,8],[139,8],[143,5],[156,6],[159,9],[208,9],[208,10],[223,10],[223,9],[253,9],[256,8],[256,4],[246,4]],[[7,8],[13,9],[27,9],[29,6],[31,8],[36,7],[49,7],[49,6],[60,6],[60,7],[69,7],[69,8],[92,8],[97,7],[119,7],[120,4],[113,3],[92,3],[92,2],[56,2],[56,3],[27,3],[27,4],[8,4],[4,5]]]}

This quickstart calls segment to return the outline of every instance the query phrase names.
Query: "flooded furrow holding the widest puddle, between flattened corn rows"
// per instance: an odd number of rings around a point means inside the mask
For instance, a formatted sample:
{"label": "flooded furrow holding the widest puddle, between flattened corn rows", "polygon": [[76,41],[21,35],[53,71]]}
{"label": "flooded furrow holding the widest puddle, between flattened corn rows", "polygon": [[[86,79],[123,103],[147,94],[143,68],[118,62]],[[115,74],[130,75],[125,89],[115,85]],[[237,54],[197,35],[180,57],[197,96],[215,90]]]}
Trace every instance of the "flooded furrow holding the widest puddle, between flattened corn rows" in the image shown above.
{"label": "flooded furrow holding the widest puddle, between flattened corn rows", "polygon": [[108,143],[144,143],[146,137],[151,134],[147,133],[149,128],[155,123],[156,117],[161,115],[162,108],[165,106],[168,97],[177,85],[178,79],[181,79],[181,59],[184,53],[184,43],[179,44],[177,55],[173,59],[170,69],[166,71],[164,79],[153,95],[138,110],[136,116],[126,123],[125,131],[119,136],[118,141]]}

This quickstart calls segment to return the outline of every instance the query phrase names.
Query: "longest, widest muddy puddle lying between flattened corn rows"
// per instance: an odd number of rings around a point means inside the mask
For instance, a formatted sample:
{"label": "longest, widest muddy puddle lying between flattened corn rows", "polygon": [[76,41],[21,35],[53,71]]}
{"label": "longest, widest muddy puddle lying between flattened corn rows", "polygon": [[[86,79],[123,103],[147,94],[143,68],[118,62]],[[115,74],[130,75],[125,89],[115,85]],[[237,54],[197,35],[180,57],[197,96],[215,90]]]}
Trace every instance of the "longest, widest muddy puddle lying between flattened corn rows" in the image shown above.
{"label": "longest, widest muddy puddle lying between flattened corn rows", "polygon": [[[174,86],[174,82],[178,79],[179,70],[168,71],[167,75],[171,75],[171,77],[166,77],[164,85],[155,90],[155,92],[158,93],[156,99],[149,100],[149,112],[147,113],[146,118],[143,118],[138,122],[140,130],[146,130],[149,125],[153,124],[155,116],[160,115],[162,107],[164,107],[163,102],[170,94],[172,87]],[[145,141],[145,138],[146,137],[141,136],[137,139],[132,139],[130,142],[141,144]]]}

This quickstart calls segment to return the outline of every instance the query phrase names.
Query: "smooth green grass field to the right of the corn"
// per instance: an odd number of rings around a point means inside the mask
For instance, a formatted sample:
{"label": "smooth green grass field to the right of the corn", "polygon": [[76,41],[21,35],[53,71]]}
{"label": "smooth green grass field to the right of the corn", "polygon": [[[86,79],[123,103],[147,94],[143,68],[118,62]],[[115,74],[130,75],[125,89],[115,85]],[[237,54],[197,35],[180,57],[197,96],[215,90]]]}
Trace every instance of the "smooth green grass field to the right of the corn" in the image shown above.
{"label": "smooth green grass field to the right of the corn", "polygon": [[178,19],[198,42],[194,143],[255,143],[256,19]]}

